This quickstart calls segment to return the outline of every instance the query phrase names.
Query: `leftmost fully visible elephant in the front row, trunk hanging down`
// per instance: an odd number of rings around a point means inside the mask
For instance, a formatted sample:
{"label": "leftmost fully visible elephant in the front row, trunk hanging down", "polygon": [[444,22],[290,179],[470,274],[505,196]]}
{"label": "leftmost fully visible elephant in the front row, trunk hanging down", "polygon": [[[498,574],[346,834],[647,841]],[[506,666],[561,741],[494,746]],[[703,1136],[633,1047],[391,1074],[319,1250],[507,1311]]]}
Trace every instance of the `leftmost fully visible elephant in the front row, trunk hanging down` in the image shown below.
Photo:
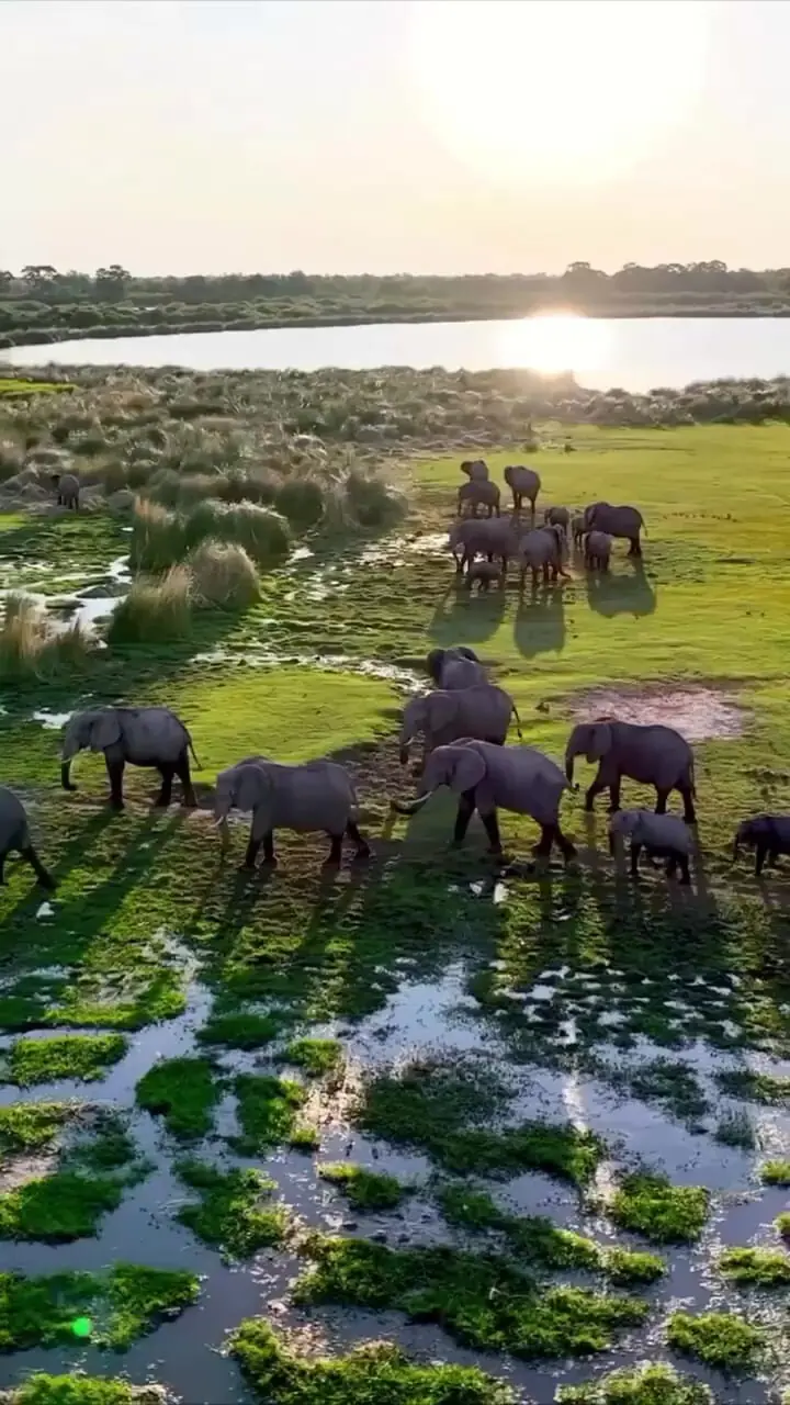
{"label": "leftmost fully visible elephant in the front row, trunk hanging down", "polygon": [[[63,736],[60,784],[75,791],[70,780],[72,757],[77,752],[104,752],[110,777],[110,804],[124,808],[124,767],[150,766],[162,776],[157,805],[169,805],[173,777],[184,790],[184,805],[197,805],[190,776],[190,750],[197,762],[193,739],[174,712],[166,707],[101,707],[77,712]],[[200,766],[200,762],[197,762]]]}

